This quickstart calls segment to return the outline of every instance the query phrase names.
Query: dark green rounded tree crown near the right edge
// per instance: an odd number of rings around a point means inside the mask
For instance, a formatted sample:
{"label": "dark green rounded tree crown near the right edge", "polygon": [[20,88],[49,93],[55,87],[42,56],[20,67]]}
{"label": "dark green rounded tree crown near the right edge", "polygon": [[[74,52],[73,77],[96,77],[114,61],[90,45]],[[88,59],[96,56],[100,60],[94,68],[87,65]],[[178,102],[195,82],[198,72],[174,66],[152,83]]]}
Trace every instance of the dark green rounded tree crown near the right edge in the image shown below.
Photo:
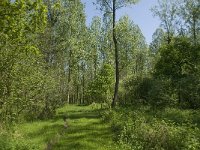
{"label": "dark green rounded tree crown near the right edge", "polygon": [[161,58],[155,66],[155,74],[176,80],[195,73],[195,66],[199,63],[197,49],[198,47],[192,46],[188,39],[175,38],[171,44],[160,49]]}

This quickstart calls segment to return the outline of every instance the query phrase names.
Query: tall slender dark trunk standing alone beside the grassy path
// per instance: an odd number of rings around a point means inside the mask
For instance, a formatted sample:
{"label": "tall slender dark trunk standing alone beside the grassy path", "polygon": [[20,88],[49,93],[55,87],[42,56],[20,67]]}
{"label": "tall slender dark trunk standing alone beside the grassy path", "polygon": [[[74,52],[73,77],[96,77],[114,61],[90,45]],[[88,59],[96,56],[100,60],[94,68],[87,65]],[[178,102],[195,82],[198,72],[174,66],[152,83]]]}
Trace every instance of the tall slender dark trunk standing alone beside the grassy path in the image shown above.
{"label": "tall slender dark trunk standing alone beside the grassy path", "polygon": [[115,91],[111,107],[114,108],[117,101],[118,89],[119,89],[119,59],[118,59],[118,47],[116,39],[116,30],[115,30],[115,20],[116,20],[116,0],[113,0],[113,42],[115,49]]}

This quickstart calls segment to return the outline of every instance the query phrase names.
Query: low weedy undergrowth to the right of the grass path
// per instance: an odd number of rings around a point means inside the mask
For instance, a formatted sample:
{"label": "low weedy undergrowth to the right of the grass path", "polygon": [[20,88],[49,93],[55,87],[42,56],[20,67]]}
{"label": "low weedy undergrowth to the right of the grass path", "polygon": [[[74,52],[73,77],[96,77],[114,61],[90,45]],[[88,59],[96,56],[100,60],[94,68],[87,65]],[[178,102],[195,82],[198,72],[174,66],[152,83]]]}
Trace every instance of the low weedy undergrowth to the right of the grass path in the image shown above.
{"label": "low weedy undergrowth to the right of the grass path", "polygon": [[[155,112],[148,107],[134,107],[113,110],[108,120],[118,137],[120,149],[199,149],[199,128],[191,122],[182,124],[170,119],[170,113],[182,113],[180,117],[185,117],[185,112],[178,109]],[[192,112],[190,114],[186,118],[193,119]]]}

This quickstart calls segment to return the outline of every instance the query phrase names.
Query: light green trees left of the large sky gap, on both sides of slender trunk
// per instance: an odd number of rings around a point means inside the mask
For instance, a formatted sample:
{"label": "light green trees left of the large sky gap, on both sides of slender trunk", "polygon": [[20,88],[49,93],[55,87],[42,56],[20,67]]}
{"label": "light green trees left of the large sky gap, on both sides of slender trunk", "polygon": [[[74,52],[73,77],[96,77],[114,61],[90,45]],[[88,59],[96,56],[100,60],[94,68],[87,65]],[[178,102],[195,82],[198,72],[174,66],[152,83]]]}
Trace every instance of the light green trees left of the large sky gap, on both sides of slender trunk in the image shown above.
{"label": "light green trees left of the large sky gap, on both sides of slender trunk", "polygon": [[[0,119],[52,117],[65,103],[111,104],[112,15],[86,26],[80,0],[0,2]],[[146,71],[147,45],[128,16],[116,25],[120,74]]]}

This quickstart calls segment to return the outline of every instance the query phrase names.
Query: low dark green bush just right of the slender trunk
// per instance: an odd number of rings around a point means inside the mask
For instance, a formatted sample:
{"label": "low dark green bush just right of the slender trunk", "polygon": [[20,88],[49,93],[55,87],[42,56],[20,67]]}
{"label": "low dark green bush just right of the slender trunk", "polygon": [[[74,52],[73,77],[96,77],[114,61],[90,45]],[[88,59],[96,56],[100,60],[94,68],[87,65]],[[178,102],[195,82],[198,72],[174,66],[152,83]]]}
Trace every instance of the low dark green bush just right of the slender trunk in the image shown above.
{"label": "low dark green bush just right of the slender trunk", "polygon": [[171,81],[165,78],[131,78],[126,81],[124,88],[127,94],[121,99],[126,99],[126,104],[149,104],[153,108],[176,104],[176,95]]}

